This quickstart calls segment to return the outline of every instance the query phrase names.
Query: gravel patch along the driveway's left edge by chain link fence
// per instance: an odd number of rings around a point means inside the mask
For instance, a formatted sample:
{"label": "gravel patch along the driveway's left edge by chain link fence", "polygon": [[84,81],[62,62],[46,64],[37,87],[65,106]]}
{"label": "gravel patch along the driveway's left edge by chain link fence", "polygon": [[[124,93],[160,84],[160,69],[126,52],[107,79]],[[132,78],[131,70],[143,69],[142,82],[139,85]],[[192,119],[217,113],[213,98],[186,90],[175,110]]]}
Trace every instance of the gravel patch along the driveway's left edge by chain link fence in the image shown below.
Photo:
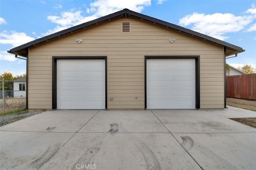
{"label": "gravel patch along the driveway's left edge by chain link fence", "polygon": [[22,111],[18,113],[9,114],[9,115],[4,115],[0,117],[0,126],[9,124],[15,121],[19,121],[23,118],[27,118],[29,116],[33,116],[42,112],[44,111]]}

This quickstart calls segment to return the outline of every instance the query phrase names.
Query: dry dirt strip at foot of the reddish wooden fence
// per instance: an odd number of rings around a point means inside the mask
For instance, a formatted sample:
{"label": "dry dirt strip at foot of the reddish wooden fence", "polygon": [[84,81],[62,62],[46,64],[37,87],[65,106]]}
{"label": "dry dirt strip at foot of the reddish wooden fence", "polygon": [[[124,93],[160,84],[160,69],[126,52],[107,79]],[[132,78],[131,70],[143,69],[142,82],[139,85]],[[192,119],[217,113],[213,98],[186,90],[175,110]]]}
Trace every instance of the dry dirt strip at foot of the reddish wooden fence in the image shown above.
{"label": "dry dirt strip at foot of the reddish wooden fence", "polygon": [[227,98],[227,105],[256,111],[256,101]]}

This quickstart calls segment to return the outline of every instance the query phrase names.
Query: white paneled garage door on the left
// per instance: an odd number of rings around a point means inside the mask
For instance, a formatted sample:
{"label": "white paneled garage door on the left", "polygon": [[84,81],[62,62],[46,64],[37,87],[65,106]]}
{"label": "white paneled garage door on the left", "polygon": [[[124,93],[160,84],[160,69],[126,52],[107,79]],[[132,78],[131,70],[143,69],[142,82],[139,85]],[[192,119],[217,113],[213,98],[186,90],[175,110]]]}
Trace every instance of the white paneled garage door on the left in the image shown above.
{"label": "white paneled garage door on the left", "polygon": [[57,60],[57,108],[105,108],[105,60]]}

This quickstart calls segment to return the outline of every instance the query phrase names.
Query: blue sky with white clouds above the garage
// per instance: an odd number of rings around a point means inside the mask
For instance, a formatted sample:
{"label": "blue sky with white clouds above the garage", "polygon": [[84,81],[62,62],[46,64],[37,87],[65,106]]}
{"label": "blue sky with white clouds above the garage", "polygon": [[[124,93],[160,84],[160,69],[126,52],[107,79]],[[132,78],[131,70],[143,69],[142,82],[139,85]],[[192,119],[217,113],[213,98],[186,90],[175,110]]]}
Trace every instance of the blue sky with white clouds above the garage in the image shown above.
{"label": "blue sky with white clouds above the garage", "polygon": [[88,0],[0,1],[0,73],[26,72],[26,61],[6,50],[115,11],[129,8],[241,46],[233,66],[256,65],[255,1]]}

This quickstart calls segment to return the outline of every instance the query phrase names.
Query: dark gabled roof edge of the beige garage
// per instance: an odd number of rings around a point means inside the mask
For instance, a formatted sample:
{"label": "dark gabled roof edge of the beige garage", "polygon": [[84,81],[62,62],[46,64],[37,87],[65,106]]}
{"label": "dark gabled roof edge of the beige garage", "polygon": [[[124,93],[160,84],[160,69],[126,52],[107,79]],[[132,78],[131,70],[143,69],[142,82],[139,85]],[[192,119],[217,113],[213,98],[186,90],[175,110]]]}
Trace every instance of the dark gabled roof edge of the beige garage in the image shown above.
{"label": "dark gabled roof edge of the beige garage", "polygon": [[[21,50],[26,50],[27,48],[29,48],[31,46],[35,46],[35,45],[44,43],[45,41],[49,41],[49,40],[52,40],[54,38],[59,38],[59,37],[65,36],[68,33],[72,33],[72,32],[78,31],[78,30],[82,30],[82,29],[85,29],[87,27],[91,27],[92,25],[97,25],[99,23],[109,21],[109,20],[112,20],[112,19],[115,19],[115,18],[119,18],[119,17],[122,17],[122,16],[133,16],[133,17],[139,18],[141,20],[153,22],[155,24],[162,25],[166,28],[174,29],[174,30],[177,30],[179,32],[186,33],[188,35],[191,35],[191,36],[194,36],[194,37],[197,37],[197,38],[201,38],[203,40],[207,40],[207,41],[210,41],[210,42],[218,44],[218,45],[225,46],[225,47],[227,47],[231,50],[235,50],[236,53],[244,52],[244,49],[242,47],[238,47],[238,46],[235,46],[233,44],[229,44],[225,41],[221,41],[219,39],[216,39],[216,38],[213,38],[213,37],[210,37],[210,36],[206,36],[202,33],[192,31],[192,30],[189,30],[187,28],[180,27],[179,25],[175,25],[175,24],[165,22],[165,21],[162,21],[162,20],[147,16],[147,15],[143,15],[143,14],[140,14],[138,12],[128,10],[126,8],[124,10],[121,10],[121,11],[118,11],[118,12],[115,12],[115,13],[112,13],[112,14],[109,14],[109,15],[106,15],[106,16],[102,16],[101,18],[98,18],[98,19],[95,19],[95,20],[92,20],[92,21],[89,21],[89,22],[85,22],[85,23],[76,25],[74,27],[71,27],[71,28],[53,33],[49,36],[45,36],[45,37],[36,39],[34,41],[30,41],[29,43],[26,43],[26,44],[20,45],[18,47],[12,48],[7,52],[12,53],[12,54],[17,54]],[[21,56],[26,57],[25,54],[26,53],[23,52]],[[18,54],[18,55],[20,55],[20,54]]]}

